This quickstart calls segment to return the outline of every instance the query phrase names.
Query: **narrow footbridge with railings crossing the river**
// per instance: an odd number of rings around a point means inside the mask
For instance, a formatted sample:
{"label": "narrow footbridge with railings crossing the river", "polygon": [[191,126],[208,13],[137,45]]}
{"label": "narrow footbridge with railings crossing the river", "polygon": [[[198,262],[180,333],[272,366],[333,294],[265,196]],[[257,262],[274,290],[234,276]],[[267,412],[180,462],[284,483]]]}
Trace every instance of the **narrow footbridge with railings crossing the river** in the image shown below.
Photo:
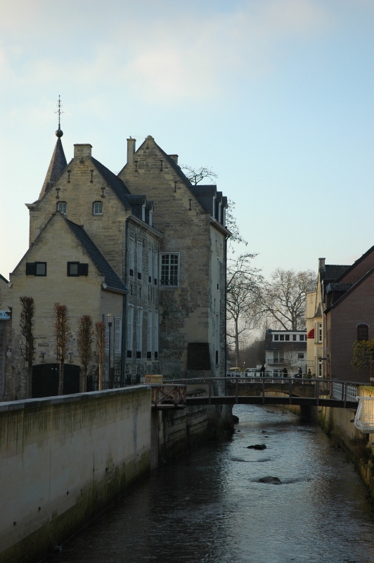
{"label": "narrow footbridge with railings crossing the river", "polygon": [[173,379],[152,385],[153,408],[193,405],[309,405],[357,409],[358,387],[330,379],[212,377]]}

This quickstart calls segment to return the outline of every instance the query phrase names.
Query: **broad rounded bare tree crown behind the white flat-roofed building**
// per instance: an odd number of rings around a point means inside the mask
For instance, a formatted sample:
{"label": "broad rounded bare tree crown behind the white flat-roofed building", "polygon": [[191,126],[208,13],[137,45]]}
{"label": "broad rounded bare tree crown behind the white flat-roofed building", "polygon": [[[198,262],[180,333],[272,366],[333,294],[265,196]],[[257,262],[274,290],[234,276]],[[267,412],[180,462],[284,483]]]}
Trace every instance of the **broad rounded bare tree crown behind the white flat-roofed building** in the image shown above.
{"label": "broad rounded bare tree crown behind the white flat-roofed building", "polygon": [[271,274],[271,281],[259,287],[257,314],[274,329],[305,329],[307,293],[314,291],[316,284],[317,277],[312,270],[295,272],[277,268]]}

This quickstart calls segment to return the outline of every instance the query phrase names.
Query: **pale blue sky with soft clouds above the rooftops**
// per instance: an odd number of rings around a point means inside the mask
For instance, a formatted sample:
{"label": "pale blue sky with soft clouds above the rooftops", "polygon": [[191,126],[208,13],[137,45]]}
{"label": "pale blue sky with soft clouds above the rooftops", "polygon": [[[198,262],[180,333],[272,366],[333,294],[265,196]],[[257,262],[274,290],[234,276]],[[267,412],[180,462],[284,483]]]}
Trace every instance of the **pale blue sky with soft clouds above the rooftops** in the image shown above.
{"label": "pale blue sky with soft clouds above the rooftops", "polygon": [[[113,172],[127,137],[217,173],[254,266],[374,244],[374,0],[0,0],[0,273],[56,143]],[[365,236],[363,236],[365,235]]]}

